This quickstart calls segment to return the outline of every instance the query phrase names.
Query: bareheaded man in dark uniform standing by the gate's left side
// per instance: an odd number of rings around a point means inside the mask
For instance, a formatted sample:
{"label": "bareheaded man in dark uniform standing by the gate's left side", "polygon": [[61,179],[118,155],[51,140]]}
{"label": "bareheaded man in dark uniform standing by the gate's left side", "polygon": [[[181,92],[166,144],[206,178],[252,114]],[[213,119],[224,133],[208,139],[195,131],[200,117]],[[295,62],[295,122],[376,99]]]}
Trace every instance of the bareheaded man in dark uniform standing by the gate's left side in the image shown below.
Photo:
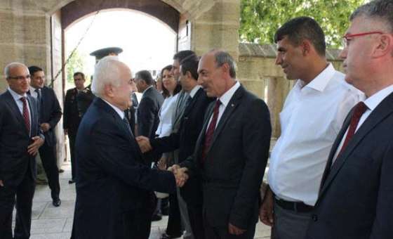
{"label": "bareheaded man in dark uniform standing by the gate's left side", "polygon": [[74,73],[74,84],[75,88],[69,89],[65,93],[64,101],[64,116],[63,116],[63,129],[64,133],[68,134],[69,139],[69,152],[71,156],[71,173],[72,179],[68,183],[74,183],[75,181],[75,138],[76,132],[78,131],[79,123],[82,118],[82,111],[78,104],[76,96],[79,92],[85,89],[85,75],[82,72]]}

